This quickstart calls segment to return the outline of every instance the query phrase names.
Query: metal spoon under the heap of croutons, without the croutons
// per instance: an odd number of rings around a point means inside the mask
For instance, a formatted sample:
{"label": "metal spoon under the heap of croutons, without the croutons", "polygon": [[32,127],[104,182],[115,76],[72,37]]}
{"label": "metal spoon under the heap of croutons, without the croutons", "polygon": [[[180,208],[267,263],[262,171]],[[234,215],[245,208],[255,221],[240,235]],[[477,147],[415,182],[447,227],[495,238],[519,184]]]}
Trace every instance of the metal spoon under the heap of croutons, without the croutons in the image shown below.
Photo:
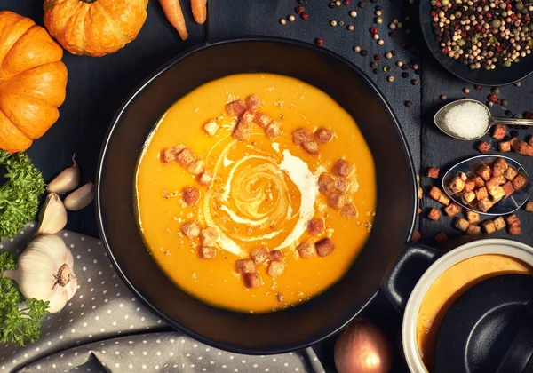
{"label": "metal spoon under the heap of croutons, without the croutons", "polygon": [[[472,174],[482,164],[494,163],[494,161],[496,161],[498,158],[504,158],[510,166],[513,166],[516,171],[518,171],[528,180],[528,184],[525,187],[522,187],[521,190],[509,195],[509,197],[504,197],[500,201],[494,203],[494,206],[492,206],[489,211],[482,212],[481,210],[477,209],[477,206],[465,203],[459,195],[453,193],[451,189],[449,189],[451,180],[457,176],[458,172],[465,172],[466,175]],[[442,177],[442,189],[444,192],[446,192],[446,194],[448,194],[449,198],[451,198],[453,202],[463,206],[466,210],[478,212],[483,215],[498,216],[510,214],[515,210],[520,209],[525,202],[528,202],[529,196],[533,194],[533,182],[529,179],[528,173],[524,170],[523,166],[513,160],[513,158],[501,155],[478,155],[474,156],[473,158],[466,159],[465,161],[457,163],[455,166],[451,167],[449,171],[446,172],[446,174],[444,174]]]}

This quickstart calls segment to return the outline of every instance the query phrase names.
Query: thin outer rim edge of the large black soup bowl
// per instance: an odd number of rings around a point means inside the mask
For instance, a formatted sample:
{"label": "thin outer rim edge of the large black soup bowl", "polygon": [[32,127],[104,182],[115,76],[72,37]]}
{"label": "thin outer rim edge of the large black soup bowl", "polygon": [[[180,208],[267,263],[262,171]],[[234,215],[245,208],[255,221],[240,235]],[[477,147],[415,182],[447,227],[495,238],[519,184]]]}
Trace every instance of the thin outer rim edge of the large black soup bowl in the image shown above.
{"label": "thin outer rim edge of the large black soup bowl", "polygon": [[[259,355],[259,354],[280,354],[280,353],[290,353],[292,351],[305,349],[307,347],[311,347],[313,345],[316,345],[330,337],[335,336],[338,334],[338,332],[342,329],[345,329],[346,326],[352,322],[355,317],[359,313],[362,312],[362,310],[370,304],[370,302],[377,297],[379,292],[379,286],[373,291],[370,292],[368,295],[368,298],[366,298],[365,301],[362,302],[362,306],[360,309],[354,313],[351,317],[348,317],[346,321],[341,322],[340,325],[336,329],[330,330],[328,333],[322,334],[322,336],[318,336],[314,338],[313,340],[301,342],[301,343],[295,343],[291,347],[284,347],[284,348],[266,348],[266,349],[246,349],[241,347],[235,347],[233,345],[225,344],[224,342],[218,342],[216,340],[213,340],[209,337],[204,337],[203,335],[200,335],[196,333],[194,330],[189,329],[187,325],[184,325],[183,323],[171,319],[171,317],[167,316],[163,311],[161,311],[156,306],[152,305],[147,298],[139,292],[135,288],[135,286],[131,283],[131,281],[128,279],[128,276],[123,272],[123,269],[121,266],[119,266],[115,255],[113,253],[113,250],[111,249],[109,242],[107,241],[107,234],[106,234],[106,228],[103,224],[103,217],[102,217],[102,209],[101,209],[101,196],[100,196],[100,184],[102,181],[102,172],[105,167],[105,159],[107,155],[107,147],[109,146],[109,142],[111,138],[113,137],[113,134],[115,132],[115,128],[118,126],[119,122],[122,119],[123,113],[126,110],[127,107],[130,106],[131,102],[136,99],[136,97],[141,94],[142,91],[151,83],[153,83],[160,75],[163,75],[167,70],[174,67],[174,65],[178,64],[181,60],[186,60],[189,56],[195,54],[196,52],[201,52],[206,48],[210,48],[213,46],[219,46],[224,44],[238,44],[238,43],[250,43],[250,42],[259,42],[259,43],[274,43],[274,44],[285,44],[285,45],[294,45],[301,48],[305,48],[307,50],[311,50],[314,52],[319,52],[328,55],[330,58],[339,60],[343,64],[345,64],[347,67],[349,67],[351,70],[353,70],[354,74],[356,74],[363,83],[367,84],[372,91],[375,92],[375,94],[378,96],[379,101],[383,104],[384,109],[386,110],[386,115],[389,116],[391,119],[391,122],[394,123],[394,127],[396,130],[396,133],[398,134],[398,137],[402,143],[402,149],[405,153],[405,159],[408,163],[408,167],[410,169],[411,174],[411,185],[413,186],[413,195],[414,197],[414,205],[413,209],[411,211],[411,217],[410,217],[410,226],[407,229],[407,236],[405,239],[409,239],[410,235],[412,234],[415,223],[416,223],[416,216],[417,216],[417,207],[418,207],[418,199],[416,198],[416,189],[417,189],[417,182],[416,182],[416,171],[414,162],[410,153],[410,147],[407,142],[406,136],[404,131],[402,130],[402,125],[400,121],[398,120],[398,117],[394,114],[394,110],[392,106],[389,104],[388,100],[382,93],[382,91],[379,90],[378,85],[374,83],[370,76],[365,74],[360,67],[357,67],[354,63],[352,63],[350,60],[347,60],[345,57],[339,55],[336,52],[332,52],[330,50],[318,47],[314,44],[305,43],[299,40],[294,40],[290,38],[285,37],[279,37],[279,36],[238,36],[238,37],[231,37],[226,38],[223,40],[219,40],[216,42],[204,42],[202,44],[195,45],[191,48],[188,48],[184,52],[180,52],[177,56],[169,60],[168,62],[164,63],[161,67],[155,69],[154,72],[152,72],[150,75],[147,76],[146,79],[144,79],[139,85],[131,92],[131,94],[128,96],[127,99],[123,101],[123,104],[117,108],[117,112],[115,116],[113,117],[110,125],[107,128],[105,137],[102,141],[102,145],[100,147],[99,152],[99,161],[97,163],[97,171],[96,171],[96,178],[95,178],[95,215],[97,219],[97,228],[99,232],[100,240],[103,244],[103,246],[107,250],[107,256],[112,263],[112,265],[115,268],[115,271],[121,278],[121,280],[126,284],[126,286],[131,290],[133,295],[136,298],[139,298],[141,302],[147,306],[147,308],[155,313],[158,317],[160,317],[163,321],[165,321],[172,329],[176,329],[188,337],[193,337],[195,340],[200,341],[206,345],[210,345],[212,347],[218,348],[223,351],[233,352],[233,353],[242,353],[242,354],[249,354],[249,355]],[[357,260],[357,259],[355,259]],[[385,274],[384,274],[385,275]],[[327,291],[327,290],[325,290]]]}

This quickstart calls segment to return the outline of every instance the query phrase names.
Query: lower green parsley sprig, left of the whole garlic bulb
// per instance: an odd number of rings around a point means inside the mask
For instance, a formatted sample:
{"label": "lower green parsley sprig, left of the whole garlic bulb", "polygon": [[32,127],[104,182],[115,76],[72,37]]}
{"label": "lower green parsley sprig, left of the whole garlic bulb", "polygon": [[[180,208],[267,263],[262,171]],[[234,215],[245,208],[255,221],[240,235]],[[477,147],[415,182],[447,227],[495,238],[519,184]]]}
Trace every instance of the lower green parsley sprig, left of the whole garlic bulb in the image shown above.
{"label": "lower green parsley sprig, left of the whole garlic bulb", "polygon": [[16,266],[12,253],[0,253],[0,343],[23,346],[41,337],[41,319],[48,313],[48,302],[22,297],[12,279],[4,276]]}

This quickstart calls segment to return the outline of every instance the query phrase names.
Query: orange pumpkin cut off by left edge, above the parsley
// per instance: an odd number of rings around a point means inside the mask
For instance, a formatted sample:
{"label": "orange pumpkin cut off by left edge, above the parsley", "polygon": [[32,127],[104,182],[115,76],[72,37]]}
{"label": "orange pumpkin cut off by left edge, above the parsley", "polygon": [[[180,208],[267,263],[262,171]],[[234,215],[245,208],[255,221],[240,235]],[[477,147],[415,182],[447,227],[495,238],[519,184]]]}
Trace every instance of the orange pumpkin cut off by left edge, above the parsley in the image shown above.
{"label": "orange pumpkin cut off by left edge, above the parsley", "polygon": [[44,28],[0,12],[0,149],[22,152],[60,117],[67,67]]}

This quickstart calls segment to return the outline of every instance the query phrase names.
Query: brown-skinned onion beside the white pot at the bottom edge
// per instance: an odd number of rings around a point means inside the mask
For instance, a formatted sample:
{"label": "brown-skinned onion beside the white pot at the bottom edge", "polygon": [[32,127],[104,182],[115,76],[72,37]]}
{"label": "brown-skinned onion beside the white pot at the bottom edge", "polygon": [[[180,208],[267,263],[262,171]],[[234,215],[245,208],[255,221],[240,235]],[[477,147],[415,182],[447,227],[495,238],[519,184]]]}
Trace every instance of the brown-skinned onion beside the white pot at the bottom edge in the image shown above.
{"label": "brown-skinned onion beside the white pot at the bottom edge", "polygon": [[387,373],[391,370],[391,347],[370,321],[355,320],[335,343],[338,373]]}

